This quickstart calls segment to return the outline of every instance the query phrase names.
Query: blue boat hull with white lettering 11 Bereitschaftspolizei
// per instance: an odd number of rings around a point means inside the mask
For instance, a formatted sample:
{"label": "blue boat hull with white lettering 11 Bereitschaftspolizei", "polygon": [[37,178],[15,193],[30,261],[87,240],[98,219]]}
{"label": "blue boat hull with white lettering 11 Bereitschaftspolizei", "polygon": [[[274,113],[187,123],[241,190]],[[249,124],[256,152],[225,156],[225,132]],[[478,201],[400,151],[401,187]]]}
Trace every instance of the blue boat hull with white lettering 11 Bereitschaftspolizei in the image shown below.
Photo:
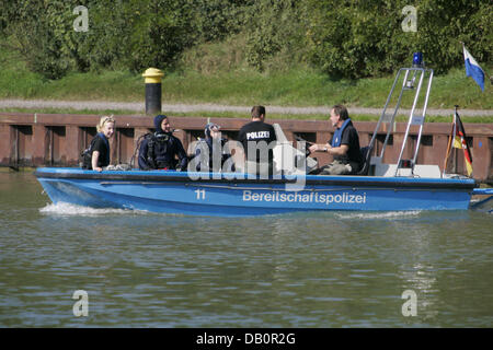
{"label": "blue boat hull with white lettering 11 Bereitschaftspolizei", "polygon": [[[248,178],[244,174],[38,168],[54,203],[187,215],[249,217],[297,211],[468,209],[473,179],[372,176]],[[233,178],[232,178],[233,177]]]}

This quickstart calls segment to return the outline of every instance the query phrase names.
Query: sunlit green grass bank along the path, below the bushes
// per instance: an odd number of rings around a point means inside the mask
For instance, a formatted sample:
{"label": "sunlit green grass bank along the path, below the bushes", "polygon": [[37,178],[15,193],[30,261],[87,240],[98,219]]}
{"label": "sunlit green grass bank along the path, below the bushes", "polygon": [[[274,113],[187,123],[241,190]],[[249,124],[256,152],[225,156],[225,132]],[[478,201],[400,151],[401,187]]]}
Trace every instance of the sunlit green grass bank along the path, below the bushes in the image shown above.
{"label": "sunlit green grass bank along the path, below the bushes", "polygon": [[[182,68],[167,73],[162,82],[163,104],[213,103],[250,106],[331,106],[343,103],[349,107],[382,108],[394,77],[360,80],[331,80],[308,67],[271,69],[256,72],[241,58],[231,65],[230,52],[221,44],[209,44],[207,49],[195,48],[185,55]],[[216,45],[216,49],[214,48]],[[217,48],[220,49],[217,49]],[[202,51],[200,51],[202,50]],[[199,52],[198,52],[199,51]],[[198,54],[197,54],[198,52]],[[491,70],[488,70],[491,71]],[[454,69],[434,79],[428,108],[452,109],[454,105],[468,109],[493,109],[493,89],[486,79],[481,92],[463,68]],[[414,94],[404,94],[402,108],[410,108]],[[12,51],[0,52],[0,98],[141,102],[144,78],[126,71],[69,73],[56,81],[30,72],[25,62]],[[395,98],[397,100],[397,98]],[[3,109],[5,112],[7,109]],[[9,108],[9,112],[30,109]],[[31,109],[32,110],[32,109]],[[38,113],[113,113],[136,114],[136,110],[73,110],[59,108],[37,109]],[[197,115],[197,113],[173,113]],[[200,116],[245,117],[240,113],[198,113]],[[320,119],[322,115],[270,115],[272,118]],[[358,116],[360,120],[375,120],[378,116]],[[435,120],[434,120],[435,119]],[[434,117],[440,121],[448,117]],[[474,119],[474,120],[472,120]],[[489,122],[491,117],[469,118],[468,121]]]}

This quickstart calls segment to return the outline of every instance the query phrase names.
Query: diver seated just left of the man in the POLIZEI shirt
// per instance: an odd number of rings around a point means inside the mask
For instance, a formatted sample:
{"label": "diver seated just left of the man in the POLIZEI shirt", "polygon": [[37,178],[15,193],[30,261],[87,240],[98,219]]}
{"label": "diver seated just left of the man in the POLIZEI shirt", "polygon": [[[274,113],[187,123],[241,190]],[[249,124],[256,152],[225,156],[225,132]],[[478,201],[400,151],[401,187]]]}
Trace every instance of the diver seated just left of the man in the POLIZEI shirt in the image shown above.
{"label": "diver seated just left of the man in the POLIZEI shirt", "polygon": [[[196,164],[196,168],[194,171],[220,172],[225,162],[231,156],[225,147],[228,140],[222,138],[220,129],[221,127],[214,122],[205,126],[205,138],[199,139],[195,147],[194,164]],[[234,172],[234,164],[231,164],[230,171]]]}

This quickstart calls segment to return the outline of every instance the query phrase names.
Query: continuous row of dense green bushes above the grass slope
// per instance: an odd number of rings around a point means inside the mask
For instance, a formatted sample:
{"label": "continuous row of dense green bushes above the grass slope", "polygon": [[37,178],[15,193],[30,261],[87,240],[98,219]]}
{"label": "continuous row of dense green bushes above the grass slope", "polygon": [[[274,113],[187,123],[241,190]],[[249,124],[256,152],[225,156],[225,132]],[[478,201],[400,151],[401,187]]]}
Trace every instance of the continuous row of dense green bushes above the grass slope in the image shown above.
{"label": "continuous row of dense green bushes above the grass slope", "polygon": [[[460,40],[491,66],[491,0],[416,0],[417,32],[405,33],[409,0],[0,0],[0,37],[48,79],[70,71],[176,68],[185,49],[244,43],[253,68],[310,62],[331,78],[379,77],[423,51],[437,73],[463,65]],[[77,5],[89,31],[76,32]],[[3,45],[3,44],[2,44]],[[210,47],[210,46],[209,46]]]}

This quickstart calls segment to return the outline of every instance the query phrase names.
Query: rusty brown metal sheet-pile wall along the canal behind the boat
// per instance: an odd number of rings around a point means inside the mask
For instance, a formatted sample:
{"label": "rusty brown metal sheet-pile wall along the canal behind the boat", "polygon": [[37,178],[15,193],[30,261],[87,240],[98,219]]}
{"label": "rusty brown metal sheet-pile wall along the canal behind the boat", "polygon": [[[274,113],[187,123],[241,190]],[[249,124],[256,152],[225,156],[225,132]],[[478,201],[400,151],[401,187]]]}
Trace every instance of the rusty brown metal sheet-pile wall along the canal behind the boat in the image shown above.
{"label": "rusty brown metal sheet-pile wall along the canal behind the boat", "polygon": [[[95,136],[98,115],[69,115],[69,114],[28,114],[28,113],[0,113],[0,166],[78,166],[79,156],[91,139]],[[111,140],[112,164],[130,163],[137,140],[146,132],[153,130],[152,117],[144,115],[117,115],[116,135]],[[203,117],[173,117],[170,121],[177,129],[175,136],[183,142],[185,150],[188,144],[203,137],[207,118]],[[211,122],[221,125],[222,132],[234,139],[239,129],[250,121],[249,118],[210,118]],[[267,120],[278,122],[288,140],[294,141],[295,135],[307,141],[324,143],[333,132],[328,120]],[[375,130],[374,121],[355,121],[360,144],[368,144]],[[473,176],[481,182],[493,180],[493,125],[465,124],[468,141],[473,156]],[[398,122],[392,140],[386,149],[383,162],[395,162],[400,145],[405,132],[405,122]],[[416,130],[411,130],[411,136]],[[443,170],[444,156],[447,149],[450,124],[426,124],[421,140],[417,156],[420,164],[438,164]],[[385,132],[377,138],[375,152],[381,150]],[[296,141],[294,141],[296,142]],[[415,147],[416,137],[408,140],[406,150]],[[404,154],[405,155],[405,154]],[[317,153],[319,164],[331,161],[325,153]],[[461,152],[449,164],[448,172],[466,174]]]}

